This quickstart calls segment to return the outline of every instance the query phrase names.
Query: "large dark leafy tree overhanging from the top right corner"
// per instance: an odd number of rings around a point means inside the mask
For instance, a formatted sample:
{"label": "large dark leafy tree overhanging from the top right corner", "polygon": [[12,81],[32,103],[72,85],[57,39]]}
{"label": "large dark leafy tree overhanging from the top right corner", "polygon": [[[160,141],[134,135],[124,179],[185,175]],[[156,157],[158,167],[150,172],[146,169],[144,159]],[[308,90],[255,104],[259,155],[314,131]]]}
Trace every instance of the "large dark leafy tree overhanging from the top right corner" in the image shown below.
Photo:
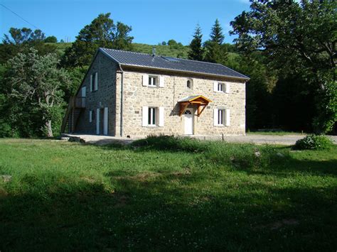
{"label": "large dark leafy tree overhanging from the top right corner", "polygon": [[[254,1],[231,22],[238,48],[260,50],[283,77],[301,76],[316,97],[315,125],[328,132],[336,123],[336,1]],[[326,92],[331,92],[326,94]],[[326,110],[334,111],[326,113]],[[325,114],[326,116],[321,116]],[[317,119],[323,120],[318,123]],[[324,125],[329,125],[325,127]]]}

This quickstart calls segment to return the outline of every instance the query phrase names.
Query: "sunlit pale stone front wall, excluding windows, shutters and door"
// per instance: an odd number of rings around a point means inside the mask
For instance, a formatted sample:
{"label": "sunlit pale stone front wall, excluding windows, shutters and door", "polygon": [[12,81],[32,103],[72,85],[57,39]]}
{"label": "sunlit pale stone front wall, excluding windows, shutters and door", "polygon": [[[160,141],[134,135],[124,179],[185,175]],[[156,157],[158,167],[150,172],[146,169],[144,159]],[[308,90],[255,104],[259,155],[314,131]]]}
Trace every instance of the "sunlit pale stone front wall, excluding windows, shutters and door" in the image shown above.
{"label": "sunlit pale stone front wall, excluding windows, shutters and door", "polygon": [[[164,87],[143,87],[142,75],[164,76]],[[193,80],[188,89],[187,80]],[[230,93],[213,91],[213,82],[230,82]],[[200,117],[194,114],[195,135],[244,135],[245,134],[245,82],[225,78],[205,78],[198,75],[173,75],[168,72],[135,70],[124,71],[123,82],[123,136],[148,136],[150,134],[184,134],[184,116],[178,116],[178,101],[192,95],[203,95],[212,100]],[[143,127],[142,106],[164,106],[164,127]],[[213,109],[230,109],[230,126],[213,125]]]}

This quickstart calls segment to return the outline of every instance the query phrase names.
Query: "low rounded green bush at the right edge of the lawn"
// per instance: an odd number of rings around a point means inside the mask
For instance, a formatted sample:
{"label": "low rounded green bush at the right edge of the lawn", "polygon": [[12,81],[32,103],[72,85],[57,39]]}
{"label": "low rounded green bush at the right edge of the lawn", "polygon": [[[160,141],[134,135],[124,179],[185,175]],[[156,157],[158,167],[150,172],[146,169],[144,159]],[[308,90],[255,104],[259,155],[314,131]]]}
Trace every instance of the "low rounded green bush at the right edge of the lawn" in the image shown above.
{"label": "low rounded green bush at the right edge of the lawn", "polygon": [[333,142],[330,138],[323,135],[309,135],[296,141],[296,150],[326,150],[331,148]]}

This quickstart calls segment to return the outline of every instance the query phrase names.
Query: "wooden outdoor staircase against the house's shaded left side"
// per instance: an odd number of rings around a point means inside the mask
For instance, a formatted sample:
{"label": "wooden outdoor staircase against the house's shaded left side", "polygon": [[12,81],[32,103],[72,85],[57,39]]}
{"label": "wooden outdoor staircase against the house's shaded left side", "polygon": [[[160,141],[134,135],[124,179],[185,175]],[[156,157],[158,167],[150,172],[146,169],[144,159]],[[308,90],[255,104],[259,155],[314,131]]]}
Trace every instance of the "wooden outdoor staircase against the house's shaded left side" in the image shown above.
{"label": "wooden outdoor staircase against the house's shaded left side", "polygon": [[85,97],[70,97],[68,109],[65,111],[61,133],[74,133],[77,120],[85,109]]}

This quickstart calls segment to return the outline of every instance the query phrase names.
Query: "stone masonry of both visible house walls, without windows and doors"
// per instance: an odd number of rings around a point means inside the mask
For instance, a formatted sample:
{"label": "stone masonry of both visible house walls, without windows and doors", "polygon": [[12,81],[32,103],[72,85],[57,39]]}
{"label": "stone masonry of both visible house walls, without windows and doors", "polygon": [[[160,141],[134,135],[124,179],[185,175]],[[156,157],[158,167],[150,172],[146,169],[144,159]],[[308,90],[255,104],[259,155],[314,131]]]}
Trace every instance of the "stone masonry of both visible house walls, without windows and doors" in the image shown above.
{"label": "stone masonry of both visible house walls, without windows and doors", "polygon": [[[90,92],[90,75],[96,71],[98,90]],[[164,87],[143,87],[144,74],[164,77]],[[191,89],[187,87],[188,80],[193,82]],[[230,82],[230,93],[214,92],[215,81]],[[87,102],[86,109],[82,111],[77,123],[77,133],[95,134],[96,119],[89,123],[89,111],[108,107],[109,136],[121,136],[121,133],[122,136],[131,138],[159,134],[184,135],[185,117],[178,116],[178,101],[193,95],[203,95],[212,102],[200,117],[196,114],[196,106],[188,106],[188,109],[194,112],[194,135],[245,135],[245,82],[242,80],[142,70],[135,67],[119,69],[119,66],[107,56],[98,53],[83,85],[87,87]],[[164,126],[142,126],[143,106],[164,107]],[[230,109],[230,126],[213,125],[215,108]],[[100,117],[103,118],[102,114]],[[103,123],[100,125],[102,127]]]}

